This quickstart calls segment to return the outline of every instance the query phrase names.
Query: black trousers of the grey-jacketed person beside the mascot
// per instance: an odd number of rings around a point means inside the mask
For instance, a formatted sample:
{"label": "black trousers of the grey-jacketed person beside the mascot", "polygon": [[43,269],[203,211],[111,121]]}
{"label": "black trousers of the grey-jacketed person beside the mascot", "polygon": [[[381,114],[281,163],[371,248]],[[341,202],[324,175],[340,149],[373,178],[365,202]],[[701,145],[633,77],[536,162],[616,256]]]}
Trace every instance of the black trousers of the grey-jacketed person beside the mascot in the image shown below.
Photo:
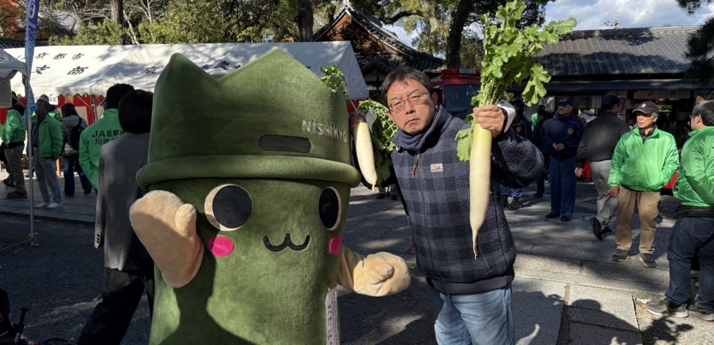
{"label": "black trousers of the grey-jacketed person beside the mascot", "polygon": [[77,345],[121,344],[144,292],[149,299],[149,312],[154,314],[153,267],[131,273],[105,268],[101,301],[84,324]]}

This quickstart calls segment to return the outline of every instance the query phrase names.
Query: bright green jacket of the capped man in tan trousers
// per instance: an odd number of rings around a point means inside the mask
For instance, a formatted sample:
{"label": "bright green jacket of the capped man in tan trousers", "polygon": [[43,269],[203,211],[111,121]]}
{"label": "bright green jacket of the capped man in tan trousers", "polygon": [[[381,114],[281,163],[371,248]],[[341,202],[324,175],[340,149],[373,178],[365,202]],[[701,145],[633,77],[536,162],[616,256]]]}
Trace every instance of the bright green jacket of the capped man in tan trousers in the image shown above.
{"label": "bright green jacket of the capped man in tan trousers", "polygon": [[672,134],[655,128],[643,142],[640,129],[635,128],[615,147],[608,183],[633,191],[660,191],[674,176],[678,161]]}

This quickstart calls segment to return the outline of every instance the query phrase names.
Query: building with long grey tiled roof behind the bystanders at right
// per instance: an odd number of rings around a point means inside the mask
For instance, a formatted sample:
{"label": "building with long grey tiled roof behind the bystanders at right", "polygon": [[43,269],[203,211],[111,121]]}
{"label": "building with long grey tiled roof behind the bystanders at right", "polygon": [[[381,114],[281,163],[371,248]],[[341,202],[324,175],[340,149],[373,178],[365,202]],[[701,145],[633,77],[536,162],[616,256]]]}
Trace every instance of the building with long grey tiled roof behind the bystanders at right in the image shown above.
{"label": "building with long grey tiled roof behind the bystanders at right", "polygon": [[599,109],[601,97],[614,92],[623,99],[620,113],[628,119],[643,101],[660,106],[658,126],[681,145],[685,123],[701,89],[710,85],[690,79],[688,38],[698,26],[574,31],[535,57],[553,77],[545,85],[549,107],[568,96],[575,106]]}

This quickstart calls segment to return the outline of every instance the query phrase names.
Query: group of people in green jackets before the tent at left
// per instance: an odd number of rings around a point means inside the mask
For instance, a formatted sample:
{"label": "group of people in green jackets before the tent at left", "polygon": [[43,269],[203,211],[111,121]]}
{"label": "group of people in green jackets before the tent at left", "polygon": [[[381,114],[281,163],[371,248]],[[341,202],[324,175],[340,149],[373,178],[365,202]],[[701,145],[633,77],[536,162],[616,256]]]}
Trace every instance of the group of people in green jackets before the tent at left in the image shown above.
{"label": "group of people in green jackets before the tent at left", "polygon": [[[3,182],[6,187],[14,189],[6,195],[6,199],[27,198],[23,169],[27,169],[28,164],[24,156],[32,156],[33,171],[42,196],[42,201],[34,205],[36,209],[57,209],[62,206],[64,198],[74,196],[75,173],[79,176],[84,194],[96,191],[101,147],[124,134],[119,125],[118,108],[121,97],[130,91],[134,88],[128,84],[116,84],[110,88],[104,100],[103,116],[87,131],[84,129],[89,128],[89,124],[81,118],[74,104],[65,103],[58,110],[50,104],[48,96],[41,95],[36,101],[36,110],[30,116],[31,133],[28,133],[24,106],[16,101],[8,109],[7,119],[0,130],[1,157],[8,172],[8,178]],[[26,143],[26,139],[31,142]],[[64,195],[56,173],[59,159],[64,162]]]}

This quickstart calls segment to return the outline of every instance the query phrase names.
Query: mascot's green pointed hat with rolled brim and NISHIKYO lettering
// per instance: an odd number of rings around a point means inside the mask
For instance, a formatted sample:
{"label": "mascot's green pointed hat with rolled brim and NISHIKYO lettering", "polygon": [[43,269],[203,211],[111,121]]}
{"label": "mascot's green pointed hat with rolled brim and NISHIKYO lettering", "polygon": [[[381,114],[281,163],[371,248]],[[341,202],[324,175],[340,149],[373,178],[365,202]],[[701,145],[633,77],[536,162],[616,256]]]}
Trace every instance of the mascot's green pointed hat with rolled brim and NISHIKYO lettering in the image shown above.
{"label": "mascot's green pointed hat with rolled brim and NISHIKYO lettering", "polygon": [[356,186],[343,96],[281,49],[218,79],[174,54],[156,82],[149,162],[136,181],[203,177]]}

